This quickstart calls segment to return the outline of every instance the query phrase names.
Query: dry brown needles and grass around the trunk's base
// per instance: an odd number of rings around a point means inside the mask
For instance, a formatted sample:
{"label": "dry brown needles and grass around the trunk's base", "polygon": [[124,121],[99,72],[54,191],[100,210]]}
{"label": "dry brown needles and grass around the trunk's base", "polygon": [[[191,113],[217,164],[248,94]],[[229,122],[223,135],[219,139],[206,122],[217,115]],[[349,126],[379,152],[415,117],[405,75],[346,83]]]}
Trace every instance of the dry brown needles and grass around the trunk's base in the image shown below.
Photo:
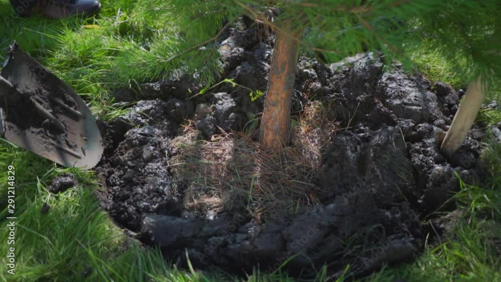
{"label": "dry brown needles and grass around the trunk's base", "polygon": [[173,172],[190,182],[185,208],[206,215],[243,207],[257,221],[311,208],[319,202],[321,149],[337,128],[328,115],[321,102],[308,105],[293,126],[291,146],[273,152],[252,140],[256,131],[205,141],[186,127],[171,144],[179,150]]}

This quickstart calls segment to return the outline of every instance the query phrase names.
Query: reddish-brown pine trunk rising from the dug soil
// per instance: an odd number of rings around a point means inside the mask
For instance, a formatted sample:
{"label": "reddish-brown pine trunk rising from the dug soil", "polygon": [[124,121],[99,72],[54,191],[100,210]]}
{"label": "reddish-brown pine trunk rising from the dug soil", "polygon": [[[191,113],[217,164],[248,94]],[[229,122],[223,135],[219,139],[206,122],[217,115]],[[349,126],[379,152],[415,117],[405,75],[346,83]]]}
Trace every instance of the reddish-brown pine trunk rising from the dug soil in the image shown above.
{"label": "reddish-brown pine trunk rising from the dug soil", "polygon": [[260,129],[261,144],[272,149],[286,146],[289,142],[289,119],[294,93],[297,51],[297,41],[291,35],[277,31]]}

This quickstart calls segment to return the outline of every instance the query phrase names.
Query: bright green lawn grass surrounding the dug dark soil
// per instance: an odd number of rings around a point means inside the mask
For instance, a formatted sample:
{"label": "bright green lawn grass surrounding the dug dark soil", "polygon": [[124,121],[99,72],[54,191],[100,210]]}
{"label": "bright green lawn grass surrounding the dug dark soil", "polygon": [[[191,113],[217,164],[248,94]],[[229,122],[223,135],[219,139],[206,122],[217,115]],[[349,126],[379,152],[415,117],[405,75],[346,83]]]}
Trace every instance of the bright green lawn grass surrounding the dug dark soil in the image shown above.
{"label": "bright green lawn grass surrounding the dug dark soil", "polygon": [[[43,18],[12,19],[7,0],[0,0],[0,59],[17,40],[91,102],[103,118],[124,110],[113,107],[110,90],[157,79],[165,68],[178,67],[181,50],[172,15],[154,0],[103,1],[93,19],[64,21]],[[153,11],[153,12],[152,12]],[[174,58],[174,59],[172,59]],[[436,53],[420,49],[416,66],[432,81],[464,87],[454,70]],[[494,124],[501,114],[485,110],[479,120]],[[501,145],[489,144],[483,152],[490,173],[487,187],[462,183],[456,199],[461,215],[453,231],[439,244],[430,244],[416,261],[386,267],[369,281],[496,281],[501,280],[499,254],[492,245],[501,216]],[[9,281],[221,281],[241,280],[220,273],[200,273],[167,264],[158,249],[128,239],[99,208],[99,189],[91,172],[61,169],[32,153],[0,145],[0,179],[8,165],[16,168],[16,275],[7,274],[9,245],[7,184],[0,183],[0,280]],[[58,195],[47,185],[71,171],[79,184]],[[42,206],[51,206],[41,213]],[[497,223],[496,223],[497,222]],[[496,225],[497,224],[497,225]],[[499,247],[499,246],[498,246]],[[325,280],[325,268],[317,281]],[[248,281],[292,281],[280,271],[265,275],[258,270]],[[349,280],[349,279],[347,279]]]}

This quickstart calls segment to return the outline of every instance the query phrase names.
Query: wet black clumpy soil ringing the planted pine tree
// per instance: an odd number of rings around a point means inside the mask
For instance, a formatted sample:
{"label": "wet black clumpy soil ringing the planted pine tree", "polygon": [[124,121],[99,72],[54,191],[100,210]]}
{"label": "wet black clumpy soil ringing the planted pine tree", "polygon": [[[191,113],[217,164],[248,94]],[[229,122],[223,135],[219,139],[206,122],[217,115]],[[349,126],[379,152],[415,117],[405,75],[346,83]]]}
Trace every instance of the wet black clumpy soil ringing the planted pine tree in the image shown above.
{"label": "wet black clumpy soil ringing the planted pine tree", "polygon": [[[265,91],[273,36],[233,29],[219,47],[222,78]],[[265,41],[260,41],[260,38]],[[98,172],[106,184],[103,206],[120,225],[167,258],[195,267],[230,272],[273,270],[298,254],[288,268],[296,274],[329,265],[335,277],[347,264],[356,275],[384,263],[410,260],[428,233],[422,220],[465,182],[481,179],[478,161],[483,129],[474,128],[451,158],[439,145],[458,108],[458,93],[444,83],[409,75],[398,64],[383,69],[384,58],[360,54],[330,66],[301,58],[293,112],[297,118],[313,100],[329,102],[341,130],[323,148],[318,185],[321,204],[297,215],[256,222],[244,209],[199,216],[185,212],[188,185],[173,173],[169,146],[184,118],[194,120],[205,138],[220,130],[241,130],[262,112],[263,98],[222,85],[194,100],[190,78],[144,84],[131,113],[101,123],[105,157]],[[133,97],[126,89],[122,97]],[[446,203],[447,202],[447,203]],[[430,237],[430,239],[432,239]]]}

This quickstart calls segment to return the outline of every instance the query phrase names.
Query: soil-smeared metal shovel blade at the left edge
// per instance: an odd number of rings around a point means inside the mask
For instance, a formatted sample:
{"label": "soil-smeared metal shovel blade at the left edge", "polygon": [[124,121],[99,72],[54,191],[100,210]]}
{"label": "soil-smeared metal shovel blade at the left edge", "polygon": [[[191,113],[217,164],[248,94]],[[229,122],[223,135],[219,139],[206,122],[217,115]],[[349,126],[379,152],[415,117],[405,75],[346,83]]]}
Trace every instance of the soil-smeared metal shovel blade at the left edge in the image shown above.
{"label": "soil-smeared metal shovel blade at the left edge", "polygon": [[66,167],[91,169],[103,153],[85,102],[16,42],[0,73],[0,135]]}

